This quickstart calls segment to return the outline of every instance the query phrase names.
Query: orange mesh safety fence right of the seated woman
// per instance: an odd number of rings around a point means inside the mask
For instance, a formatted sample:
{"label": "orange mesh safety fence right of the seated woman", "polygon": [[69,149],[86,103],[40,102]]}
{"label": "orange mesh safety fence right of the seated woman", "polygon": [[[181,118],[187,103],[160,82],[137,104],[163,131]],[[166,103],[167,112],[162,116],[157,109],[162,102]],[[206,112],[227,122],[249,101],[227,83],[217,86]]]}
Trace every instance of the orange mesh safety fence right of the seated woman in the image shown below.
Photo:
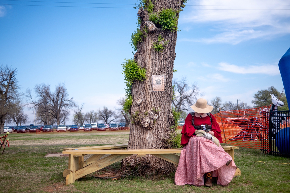
{"label": "orange mesh safety fence right of the seated woman", "polygon": [[213,116],[220,125],[225,144],[269,149],[269,113],[271,106],[221,111]]}

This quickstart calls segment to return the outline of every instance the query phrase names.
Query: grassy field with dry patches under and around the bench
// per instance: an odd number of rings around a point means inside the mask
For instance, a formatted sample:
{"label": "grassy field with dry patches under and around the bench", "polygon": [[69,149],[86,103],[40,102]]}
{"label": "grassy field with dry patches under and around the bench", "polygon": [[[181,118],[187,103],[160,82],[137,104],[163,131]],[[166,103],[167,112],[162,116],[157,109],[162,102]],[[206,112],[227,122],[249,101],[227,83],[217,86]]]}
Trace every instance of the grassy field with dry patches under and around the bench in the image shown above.
{"label": "grassy field with dry patches under and around the bench", "polygon": [[[264,155],[256,149],[235,150],[235,163],[242,175],[227,186],[211,188],[176,186],[174,173],[153,180],[130,176],[117,181],[93,178],[90,174],[86,179],[65,185],[62,172],[68,167],[68,157],[44,157],[62,152],[63,148],[124,143],[128,141],[128,134],[9,135],[11,146],[0,155],[0,192],[290,192],[290,164],[277,164],[290,163],[290,159]],[[58,143],[50,144],[50,141]],[[95,144],[91,144],[93,141]],[[117,162],[97,173],[117,170],[119,166]]]}

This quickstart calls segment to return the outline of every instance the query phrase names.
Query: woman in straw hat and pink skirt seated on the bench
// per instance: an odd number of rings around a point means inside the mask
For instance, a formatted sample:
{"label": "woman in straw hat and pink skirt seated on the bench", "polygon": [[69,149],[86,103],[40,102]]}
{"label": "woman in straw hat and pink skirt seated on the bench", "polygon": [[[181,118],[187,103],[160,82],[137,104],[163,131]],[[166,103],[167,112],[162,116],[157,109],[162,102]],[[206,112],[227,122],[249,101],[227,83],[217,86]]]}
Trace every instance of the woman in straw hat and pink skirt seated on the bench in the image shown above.
{"label": "woman in straw hat and pink skirt seated on the bench", "polygon": [[[175,184],[211,187],[212,177],[218,177],[219,185],[227,185],[233,179],[237,167],[220,144],[211,140],[212,136],[215,136],[222,143],[220,126],[209,113],[213,106],[207,105],[207,101],[200,98],[191,108],[195,112],[186,117],[181,132],[181,145],[185,147],[181,151],[175,173]],[[206,135],[197,137],[196,130],[204,130]]]}

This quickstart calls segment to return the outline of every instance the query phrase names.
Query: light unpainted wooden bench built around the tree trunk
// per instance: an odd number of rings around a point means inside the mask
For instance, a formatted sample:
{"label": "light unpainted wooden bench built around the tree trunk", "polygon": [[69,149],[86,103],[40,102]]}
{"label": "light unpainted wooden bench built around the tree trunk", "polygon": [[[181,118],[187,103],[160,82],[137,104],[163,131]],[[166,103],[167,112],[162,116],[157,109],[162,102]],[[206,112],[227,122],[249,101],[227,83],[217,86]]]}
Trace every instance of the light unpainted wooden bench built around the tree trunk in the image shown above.
{"label": "light unpainted wooden bench built around the tree trunk", "polygon": [[[116,144],[107,146],[93,146],[93,147],[81,147],[81,148],[66,148],[62,152],[68,154],[68,169],[63,172],[63,177],[66,177],[66,185],[74,183],[77,179],[85,177],[86,175],[100,170],[106,166],[111,165],[117,161],[120,161],[130,155],[137,154],[142,157],[146,154],[151,154],[171,163],[178,165],[179,155],[182,149],[136,149],[125,150],[128,144]],[[234,150],[239,147],[234,146],[222,146],[224,150],[234,160]],[[84,161],[84,156],[90,154],[91,156]],[[110,154],[107,157],[102,158],[104,155]],[[101,159],[102,158],[102,159]],[[240,176],[241,170],[237,168],[235,176]]]}

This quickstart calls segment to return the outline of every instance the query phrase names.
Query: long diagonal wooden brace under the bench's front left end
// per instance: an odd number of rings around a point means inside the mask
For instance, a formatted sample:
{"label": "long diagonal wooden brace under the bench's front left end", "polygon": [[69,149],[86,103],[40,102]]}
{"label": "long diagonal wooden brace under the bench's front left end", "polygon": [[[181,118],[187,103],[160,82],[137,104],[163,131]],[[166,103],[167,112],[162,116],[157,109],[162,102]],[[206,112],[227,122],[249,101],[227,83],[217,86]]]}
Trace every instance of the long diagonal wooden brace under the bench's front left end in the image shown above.
{"label": "long diagonal wooden brace under the bench's front left end", "polygon": [[[85,166],[84,168],[81,168],[75,172],[75,179],[79,179],[83,176],[86,176],[90,173],[93,173],[97,170],[100,170],[106,166],[111,165],[112,163],[115,163],[117,161],[120,161],[132,154],[122,154],[122,155],[109,155],[108,157],[104,157],[103,159],[100,159],[96,161],[95,163],[92,163],[88,166]],[[70,180],[72,181],[72,180]]]}

